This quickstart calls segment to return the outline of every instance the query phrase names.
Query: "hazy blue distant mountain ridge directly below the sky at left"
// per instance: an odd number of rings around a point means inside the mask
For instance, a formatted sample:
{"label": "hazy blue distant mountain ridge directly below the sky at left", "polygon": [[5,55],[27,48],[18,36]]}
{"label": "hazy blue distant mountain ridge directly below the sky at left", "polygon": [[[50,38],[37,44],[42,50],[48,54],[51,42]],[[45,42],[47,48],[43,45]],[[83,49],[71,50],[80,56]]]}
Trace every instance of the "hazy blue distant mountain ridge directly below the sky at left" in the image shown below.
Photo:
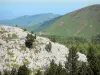
{"label": "hazy blue distant mountain ridge directly below the sky at left", "polygon": [[45,21],[51,20],[53,18],[58,17],[57,14],[45,13],[45,14],[37,14],[37,15],[24,15],[14,19],[0,20],[0,24],[11,25],[11,26],[31,26],[36,24],[41,24]]}

